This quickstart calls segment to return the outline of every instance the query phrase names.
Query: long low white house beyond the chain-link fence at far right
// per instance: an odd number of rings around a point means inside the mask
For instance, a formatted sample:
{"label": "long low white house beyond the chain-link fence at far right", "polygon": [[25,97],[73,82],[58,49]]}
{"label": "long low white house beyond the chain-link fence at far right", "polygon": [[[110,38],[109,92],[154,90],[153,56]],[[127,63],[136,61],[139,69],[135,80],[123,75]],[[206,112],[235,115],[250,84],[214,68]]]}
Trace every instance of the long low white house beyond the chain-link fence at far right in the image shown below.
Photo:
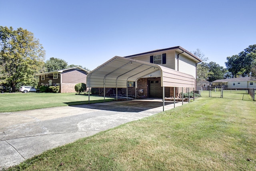
{"label": "long low white house beyond the chain-link fence at far right", "polygon": [[256,79],[251,77],[242,78],[226,78],[224,80],[215,80],[212,86],[225,86],[225,87],[237,87],[237,88],[256,88]]}

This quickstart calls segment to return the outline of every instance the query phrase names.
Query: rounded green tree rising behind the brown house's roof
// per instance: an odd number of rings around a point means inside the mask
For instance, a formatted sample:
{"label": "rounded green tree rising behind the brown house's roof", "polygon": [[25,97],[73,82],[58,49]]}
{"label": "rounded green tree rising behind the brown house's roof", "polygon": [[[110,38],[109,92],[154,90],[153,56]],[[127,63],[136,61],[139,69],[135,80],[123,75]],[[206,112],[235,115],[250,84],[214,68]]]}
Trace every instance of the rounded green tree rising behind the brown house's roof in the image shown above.
{"label": "rounded green tree rising behind the brown house's roof", "polygon": [[47,72],[58,71],[68,68],[68,63],[60,58],[50,58],[46,60],[45,67]]}

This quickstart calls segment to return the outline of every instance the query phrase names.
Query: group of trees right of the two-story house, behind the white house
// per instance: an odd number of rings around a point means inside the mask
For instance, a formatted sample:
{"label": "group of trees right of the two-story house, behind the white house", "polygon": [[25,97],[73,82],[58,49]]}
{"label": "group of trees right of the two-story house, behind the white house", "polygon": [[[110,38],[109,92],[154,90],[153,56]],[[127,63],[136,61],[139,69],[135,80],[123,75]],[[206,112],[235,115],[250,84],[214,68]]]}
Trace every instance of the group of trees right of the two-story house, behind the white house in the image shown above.
{"label": "group of trees right of the two-story house, behind the white house", "polygon": [[197,65],[197,81],[213,82],[226,78],[256,77],[256,44],[250,45],[238,55],[228,56],[226,68],[216,62],[206,63],[208,58],[200,49],[196,49],[192,54],[203,61]]}

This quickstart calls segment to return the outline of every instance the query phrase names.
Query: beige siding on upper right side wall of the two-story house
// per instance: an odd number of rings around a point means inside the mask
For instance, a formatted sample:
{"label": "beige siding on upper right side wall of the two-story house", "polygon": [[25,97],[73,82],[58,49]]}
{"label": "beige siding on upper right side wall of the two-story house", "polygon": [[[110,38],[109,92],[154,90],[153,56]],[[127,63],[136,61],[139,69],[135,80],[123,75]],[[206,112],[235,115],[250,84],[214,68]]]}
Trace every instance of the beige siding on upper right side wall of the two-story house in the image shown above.
{"label": "beige siding on upper right side wall of the two-story house", "polygon": [[[178,66],[178,64],[177,64]],[[192,75],[194,78],[196,78],[196,64],[192,60],[182,56],[182,54],[179,55],[179,72],[183,72],[186,74]]]}

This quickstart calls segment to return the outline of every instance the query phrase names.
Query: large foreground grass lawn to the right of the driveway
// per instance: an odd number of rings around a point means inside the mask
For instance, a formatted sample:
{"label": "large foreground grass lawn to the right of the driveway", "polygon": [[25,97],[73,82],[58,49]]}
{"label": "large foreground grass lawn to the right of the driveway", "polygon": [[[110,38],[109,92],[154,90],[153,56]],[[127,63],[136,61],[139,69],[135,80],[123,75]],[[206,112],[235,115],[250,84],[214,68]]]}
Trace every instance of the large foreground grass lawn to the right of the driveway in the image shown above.
{"label": "large foreground grass lawn to the right of the driveway", "polygon": [[[248,97],[249,98],[249,97]],[[199,97],[10,170],[256,170],[256,102]]]}

